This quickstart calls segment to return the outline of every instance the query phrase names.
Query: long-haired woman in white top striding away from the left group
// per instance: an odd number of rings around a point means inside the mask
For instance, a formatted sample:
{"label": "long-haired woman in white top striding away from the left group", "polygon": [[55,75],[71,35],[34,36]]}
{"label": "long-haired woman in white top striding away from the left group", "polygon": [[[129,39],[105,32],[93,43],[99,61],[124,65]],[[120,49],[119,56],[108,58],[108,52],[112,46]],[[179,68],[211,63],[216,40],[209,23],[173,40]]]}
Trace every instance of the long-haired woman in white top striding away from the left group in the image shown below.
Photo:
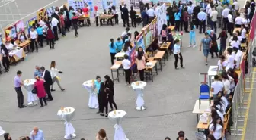
{"label": "long-haired woman in white top striding away from the left group", "polygon": [[55,61],[51,61],[51,64],[50,64],[50,74],[51,74],[51,77],[53,79],[53,84],[51,86],[51,91],[54,92],[55,89],[53,89],[53,85],[54,85],[54,82],[57,82],[58,86],[59,86],[59,89],[61,91],[65,91],[64,88],[62,88],[62,86],[60,86],[60,83],[59,83],[59,79],[57,77],[57,73],[63,73],[61,70],[58,70],[56,68],[56,62]]}

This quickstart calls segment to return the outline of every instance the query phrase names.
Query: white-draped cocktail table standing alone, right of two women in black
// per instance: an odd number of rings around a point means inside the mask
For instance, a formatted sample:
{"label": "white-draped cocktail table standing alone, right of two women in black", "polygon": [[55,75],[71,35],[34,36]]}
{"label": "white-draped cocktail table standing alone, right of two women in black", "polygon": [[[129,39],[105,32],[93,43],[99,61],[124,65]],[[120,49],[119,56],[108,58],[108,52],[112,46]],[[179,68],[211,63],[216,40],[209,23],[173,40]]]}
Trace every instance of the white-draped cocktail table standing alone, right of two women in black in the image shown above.
{"label": "white-draped cocktail table standing alone, right of two women in black", "polygon": [[143,89],[146,86],[146,82],[143,82],[143,81],[133,82],[131,86],[137,94],[136,110],[146,110],[146,107],[144,106],[145,101],[143,99]]}

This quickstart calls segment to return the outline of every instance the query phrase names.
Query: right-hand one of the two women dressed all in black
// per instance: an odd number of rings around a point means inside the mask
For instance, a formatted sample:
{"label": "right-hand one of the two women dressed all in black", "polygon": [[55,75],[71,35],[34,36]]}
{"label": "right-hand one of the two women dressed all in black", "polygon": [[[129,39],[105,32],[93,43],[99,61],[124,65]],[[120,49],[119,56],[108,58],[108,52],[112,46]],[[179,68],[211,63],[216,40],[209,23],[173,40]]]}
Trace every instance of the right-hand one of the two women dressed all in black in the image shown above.
{"label": "right-hand one of the two women dressed all in black", "polygon": [[106,92],[107,92],[107,99],[108,102],[110,104],[110,111],[113,111],[113,106],[115,107],[115,109],[117,110],[117,104],[114,101],[114,82],[112,81],[112,79],[110,79],[110,76],[106,75],[104,76],[105,78],[105,86],[106,86]]}

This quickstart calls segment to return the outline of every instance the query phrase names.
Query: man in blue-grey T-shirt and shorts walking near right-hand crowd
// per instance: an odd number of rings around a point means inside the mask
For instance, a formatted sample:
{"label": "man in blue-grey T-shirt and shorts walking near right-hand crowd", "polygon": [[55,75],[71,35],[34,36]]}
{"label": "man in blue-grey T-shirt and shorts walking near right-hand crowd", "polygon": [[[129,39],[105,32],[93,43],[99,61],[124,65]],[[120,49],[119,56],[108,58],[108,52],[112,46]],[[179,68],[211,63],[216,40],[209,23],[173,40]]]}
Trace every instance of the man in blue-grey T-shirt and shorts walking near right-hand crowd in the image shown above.
{"label": "man in blue-grey T-shirt and shorts walking near right-hand crowd", "polygon": [[202,48],[202,45],[203,45],[203,55],[205,57],[206,65],[208,65],[207,58],[208,58],[208,55],[209,55],[210,43],[211,43],[212,39],[210,39],[208,33],[204,33],[204,35],[205,35],[205,37],[201,40],[199,51],[201,51],[201,48]]}

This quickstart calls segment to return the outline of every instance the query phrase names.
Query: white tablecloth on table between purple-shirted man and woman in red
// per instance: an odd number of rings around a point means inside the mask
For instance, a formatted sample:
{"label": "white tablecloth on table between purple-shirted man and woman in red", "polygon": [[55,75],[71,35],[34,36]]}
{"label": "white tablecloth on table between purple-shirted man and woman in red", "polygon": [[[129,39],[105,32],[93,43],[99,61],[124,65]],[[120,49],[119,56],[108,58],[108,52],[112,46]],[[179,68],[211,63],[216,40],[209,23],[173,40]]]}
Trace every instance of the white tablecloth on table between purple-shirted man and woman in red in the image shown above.
{"label": "white tablecloth on table between purple-shirted man and woman in red", "polygon": [[32,89],[34,89],[34,82],[36,79],[26,79],[24,80],[24,88],[27,89],[27,102],[37,101],[37,94],[32,93]]}

